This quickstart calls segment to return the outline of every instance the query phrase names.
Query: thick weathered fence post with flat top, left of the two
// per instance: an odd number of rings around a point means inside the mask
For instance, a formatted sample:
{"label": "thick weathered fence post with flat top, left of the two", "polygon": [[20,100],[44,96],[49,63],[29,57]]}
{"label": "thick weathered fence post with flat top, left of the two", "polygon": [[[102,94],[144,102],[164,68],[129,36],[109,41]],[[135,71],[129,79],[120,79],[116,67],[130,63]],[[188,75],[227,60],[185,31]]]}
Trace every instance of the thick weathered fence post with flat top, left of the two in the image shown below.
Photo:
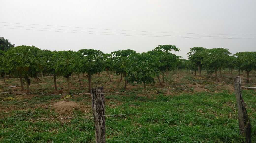
{"label": "thick weathered fence post with flat top, left of the two", "polygon": [[92,112],[95,125],[95,141],[106,142],[106,121],[105,121],[105,101],[104,88],[96,87],[91,89]]}

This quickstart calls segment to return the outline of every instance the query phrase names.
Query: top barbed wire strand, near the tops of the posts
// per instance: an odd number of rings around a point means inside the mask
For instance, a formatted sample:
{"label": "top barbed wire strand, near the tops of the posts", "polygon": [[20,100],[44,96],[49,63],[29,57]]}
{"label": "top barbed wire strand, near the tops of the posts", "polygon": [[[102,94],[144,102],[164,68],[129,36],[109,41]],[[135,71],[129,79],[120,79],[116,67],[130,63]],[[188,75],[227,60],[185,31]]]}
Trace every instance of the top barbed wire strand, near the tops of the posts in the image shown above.
{"label": "top barbed wire strand, near the tops of the posts", "polygon": [[[188,89],[162,89],[162,88],[155,88],[155,89],[148,89],[148,90],[130,90],[130,91],[120,91],[120,92],[107,92],[107,93],[101,93],[101,94],[113,94],[113,93],[122,93],[122,92],[143,92],[143,91],[150,91],[150,90],[167,90],[167,91],[181,91],[181,90],[191,90],[191,89],[197,89],[197,88],[207,88],[207,87],[215,87],[215,86],[225,86],[225,85],[234,85],[234,84],[256,84],[256,83],[233,83],[233,84],[222,84],[222,85],[211,85],[211,86],[204,86],[204,87],[194,87],[194,88],[188,88]],[[61,94],[47,94],[47,93],[15,93],[15,92],[0,92],[1,93],[7,93],[7,94],[34,94],[34,95],[74,95],[74,94],[98,94],[98,93],[61,93]]]}

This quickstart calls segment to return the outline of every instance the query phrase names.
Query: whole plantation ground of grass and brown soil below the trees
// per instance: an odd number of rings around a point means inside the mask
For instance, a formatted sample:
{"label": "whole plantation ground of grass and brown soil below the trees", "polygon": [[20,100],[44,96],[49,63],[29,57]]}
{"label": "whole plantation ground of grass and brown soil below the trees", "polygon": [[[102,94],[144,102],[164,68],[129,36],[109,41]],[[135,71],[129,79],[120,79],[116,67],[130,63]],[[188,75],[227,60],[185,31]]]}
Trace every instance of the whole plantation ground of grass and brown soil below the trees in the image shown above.
{"label": "whole plantation ground of grass and brown soil below the trees", "polygon": [[[229,85],[237,70],[232,76],[226,70],[220,82],[204,70],[202,78],[191,73],[169,72],[168,91],[155,77],[155,83],[147,85],[151,98],[141,84],[127,84],[124,90],[120,76],[113,75],[110,82],[105,72],[93,75],[91,87],[104,86],[105,112],[110,115],[106,142],[239,142],[236,98]],[[241,75],[242,86],[255,87],[255,75],[250,72],[250,84]],[[47,75],[45,82],[30,78],[29,95],[0,94],[0,142],[95,142],[88,78],[81,74],[80,78],[83,85],[73,77],[70,95],[62,95],[67,93],[66,78],[57,77],[55,92],[53,76]],[[1,79],[1,92],[21,93],[20,87],[7,88],[19,85],[19,78],[6,82]],[[243,89],[242,95],[255,141],[256,90]]]}

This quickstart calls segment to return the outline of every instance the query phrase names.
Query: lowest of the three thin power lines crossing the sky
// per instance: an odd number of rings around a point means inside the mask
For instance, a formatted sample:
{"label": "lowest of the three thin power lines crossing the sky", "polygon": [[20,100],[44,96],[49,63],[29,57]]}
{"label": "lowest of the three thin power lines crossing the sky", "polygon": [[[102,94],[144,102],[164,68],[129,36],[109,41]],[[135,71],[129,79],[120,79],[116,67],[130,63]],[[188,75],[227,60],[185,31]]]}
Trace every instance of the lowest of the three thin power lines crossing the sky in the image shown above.
{"label": "lowest of the three thin power lines crossing the sky", "polygon": [[[83,33],[83,32],[68,32],[68,31],[51,31],[51,30],[36,30],[36,29],[22,29],[22,28],[6,28],[5,29],[20,29],[20,30],[34,30],[34,31],[50,31],[50,32],[66,32],[66,33]],[[102,33],[83,33],[83,34],[99,34],[99,35],[120,35],[120,36],[139,36],[139,37],[167,37],[167,38],[201,38],[201,39],[256,39],[255,38],[207,38],[207,37],[168,37],[168,36],[143,36],[143,35],[122,35],[122,34],[102,34]]]}

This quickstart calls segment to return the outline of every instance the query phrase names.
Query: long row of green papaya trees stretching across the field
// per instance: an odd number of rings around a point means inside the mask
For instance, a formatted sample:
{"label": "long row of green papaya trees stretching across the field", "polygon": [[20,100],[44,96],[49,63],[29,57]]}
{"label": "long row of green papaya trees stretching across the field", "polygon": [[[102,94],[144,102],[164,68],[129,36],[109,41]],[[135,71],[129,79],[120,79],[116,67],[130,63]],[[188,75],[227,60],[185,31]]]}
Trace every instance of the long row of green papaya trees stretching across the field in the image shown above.
{"label": "long row of green papaya trees stretching across the field", "polygon": [[[196,71],[198,68],[201,76],[201,69],[204,68],[209,74],[215,73],[215,78],[219,81],[218,69],[221,76],[222,68],[230,68],[231,71],[236,68],[239,71],[247,71],[247,82],[249,82],[249,72],[256,69],[256,52],[239,52],[231,55],[228,49],[194,47],[190,49],[189,58],[186,60],[175,55],[174,51],[178,52],[180,49],[173,45],[159,45],[154,50],[143,53],[127,49],[106,54],[94,49],[50,51],[41,50],[35,46],[11,45],[9,48],[0,49],[0,68],[2,77],[7,73],[20,78],[22,91],[25,91],[23,86],[23,78],[25,78],[27,93],[30,93],[29,78],[34,77],[38,80],[39,73],[53,75],[55,91],[57,91],[56,77],[65,77],[68,93],[70,93],[72,75],[77,75],[82,85],[79,74],[86,73],[90,92],[92,75],[106,71],[111,82],[110,72],[121,75],[121,79],[123,76],[124,89],[127,83],[142,83],[147,97],[149,94],[146,85],[154,83],[154,77],[157,77],[159,84],[168,87],[169,70]],[[160,75],[163,77],[162,81]],[[3,79],[5,81],[5,78]]]}

